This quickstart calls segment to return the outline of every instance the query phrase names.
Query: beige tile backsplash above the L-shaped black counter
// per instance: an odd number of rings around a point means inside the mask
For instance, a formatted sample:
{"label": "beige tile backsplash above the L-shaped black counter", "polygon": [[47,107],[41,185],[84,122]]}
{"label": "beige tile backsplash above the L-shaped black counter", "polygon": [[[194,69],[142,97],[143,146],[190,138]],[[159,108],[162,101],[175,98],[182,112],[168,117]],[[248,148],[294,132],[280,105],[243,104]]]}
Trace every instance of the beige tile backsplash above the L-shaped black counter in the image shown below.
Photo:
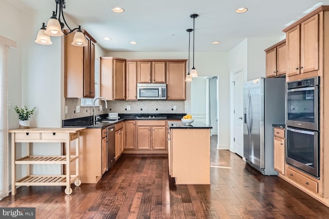
{"label": "beige tile backsplash above the L-shaped black counter", "polygon": [[[96,114],[109,112],[117,113],[185,113],[185,101],[107,101],[105,109],[104,101],[100,102],[103,110],[95,106]],[[93,115],[93,107],[82,107],[81,99],[65,98],[67,114],[65,120]],[[77,106],[80,112],[77,112]],[[130,107],[130,110],[129,110]]]}

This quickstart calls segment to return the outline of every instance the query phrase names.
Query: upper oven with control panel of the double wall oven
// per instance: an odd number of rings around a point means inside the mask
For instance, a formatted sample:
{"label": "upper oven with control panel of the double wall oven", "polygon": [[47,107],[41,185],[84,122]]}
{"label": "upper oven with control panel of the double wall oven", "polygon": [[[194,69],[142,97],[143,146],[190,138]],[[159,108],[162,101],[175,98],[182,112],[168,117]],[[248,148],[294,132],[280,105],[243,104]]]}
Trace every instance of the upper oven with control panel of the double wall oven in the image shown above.
{"label": "upper oven with control panel of the double wall oven", "polygon": [[286,125],[319,130],[319,77],[286,83]]}

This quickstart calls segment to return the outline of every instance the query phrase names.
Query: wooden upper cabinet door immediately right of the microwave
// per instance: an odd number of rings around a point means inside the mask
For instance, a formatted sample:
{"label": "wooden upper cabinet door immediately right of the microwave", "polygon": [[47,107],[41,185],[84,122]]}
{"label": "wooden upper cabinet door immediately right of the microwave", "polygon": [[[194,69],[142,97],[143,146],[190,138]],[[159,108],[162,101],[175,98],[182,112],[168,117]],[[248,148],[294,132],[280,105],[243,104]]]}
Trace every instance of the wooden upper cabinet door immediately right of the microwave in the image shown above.
{"label": "wooden upper cabinet door immediately right of the microwave", "polygon": [[185,99],[186,62],[167,62],[167,99]]}

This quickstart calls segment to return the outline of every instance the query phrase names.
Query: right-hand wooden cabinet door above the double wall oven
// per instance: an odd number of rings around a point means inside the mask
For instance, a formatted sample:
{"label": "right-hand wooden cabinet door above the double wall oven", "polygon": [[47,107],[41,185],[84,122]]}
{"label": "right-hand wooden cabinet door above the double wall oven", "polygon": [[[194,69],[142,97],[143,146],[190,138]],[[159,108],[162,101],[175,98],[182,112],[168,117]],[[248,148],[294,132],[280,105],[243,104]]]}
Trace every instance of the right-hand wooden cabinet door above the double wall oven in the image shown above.
{"label": "right-hand wooden cabinet door above the double wall oven", "polygon": [[301,24],[300,72],[319,69],[319,18],[318,14]]}

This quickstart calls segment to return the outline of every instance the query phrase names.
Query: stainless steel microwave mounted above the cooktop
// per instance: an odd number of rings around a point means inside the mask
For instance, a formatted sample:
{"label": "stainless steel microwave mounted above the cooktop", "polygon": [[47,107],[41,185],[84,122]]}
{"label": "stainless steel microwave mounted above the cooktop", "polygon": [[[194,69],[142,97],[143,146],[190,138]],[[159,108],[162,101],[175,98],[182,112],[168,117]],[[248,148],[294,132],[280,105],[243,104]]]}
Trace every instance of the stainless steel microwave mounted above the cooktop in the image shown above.
{"label": "stainless steel microwave mounted above the cooktop", "polygon": [[167,99],[167,84],[138,83],[137,99]]}

